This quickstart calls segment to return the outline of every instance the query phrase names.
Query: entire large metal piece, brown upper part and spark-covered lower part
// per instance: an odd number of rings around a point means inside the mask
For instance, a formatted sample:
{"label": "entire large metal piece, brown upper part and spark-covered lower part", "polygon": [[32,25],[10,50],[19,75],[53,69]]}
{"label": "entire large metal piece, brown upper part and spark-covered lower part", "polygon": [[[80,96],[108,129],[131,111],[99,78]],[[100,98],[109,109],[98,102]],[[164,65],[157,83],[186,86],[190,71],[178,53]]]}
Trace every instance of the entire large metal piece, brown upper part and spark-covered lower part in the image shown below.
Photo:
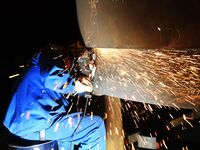
{"label": "entire large metal piece, brown upper part and spark-covered lower part", "polygon": [[96,48],[98,57],[94,93],[198,109],[198,4],[195,0],[181,4],[76,0],[83,40],[87,47]]}

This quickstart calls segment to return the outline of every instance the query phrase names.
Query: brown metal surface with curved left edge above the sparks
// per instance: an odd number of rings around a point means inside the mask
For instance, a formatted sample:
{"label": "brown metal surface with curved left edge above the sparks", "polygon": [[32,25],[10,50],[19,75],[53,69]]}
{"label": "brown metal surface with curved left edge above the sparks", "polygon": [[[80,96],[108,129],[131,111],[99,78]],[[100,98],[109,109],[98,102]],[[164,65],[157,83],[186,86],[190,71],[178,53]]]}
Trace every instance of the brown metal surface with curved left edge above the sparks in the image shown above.
{"label": "brown metal surface with curved left edge above the sparks", "polygon": [[88,47],[188,48],[200,46],[196,0],[76,0]]}

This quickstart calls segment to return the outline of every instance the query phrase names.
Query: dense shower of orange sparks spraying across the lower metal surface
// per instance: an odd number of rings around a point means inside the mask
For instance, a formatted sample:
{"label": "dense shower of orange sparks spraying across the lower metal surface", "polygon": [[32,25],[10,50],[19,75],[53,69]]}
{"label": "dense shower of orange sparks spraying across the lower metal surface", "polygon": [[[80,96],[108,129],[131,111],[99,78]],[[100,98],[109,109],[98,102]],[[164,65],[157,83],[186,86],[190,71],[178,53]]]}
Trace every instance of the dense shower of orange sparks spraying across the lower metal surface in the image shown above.
{"label": "dense shower of orange sparks spraying across the lower metal surface", "polygon": [[[95,52],[95,93],[159,107],[199,107],[199,49],[96,48]],[[152,111],[150,105],[145,107]]]}

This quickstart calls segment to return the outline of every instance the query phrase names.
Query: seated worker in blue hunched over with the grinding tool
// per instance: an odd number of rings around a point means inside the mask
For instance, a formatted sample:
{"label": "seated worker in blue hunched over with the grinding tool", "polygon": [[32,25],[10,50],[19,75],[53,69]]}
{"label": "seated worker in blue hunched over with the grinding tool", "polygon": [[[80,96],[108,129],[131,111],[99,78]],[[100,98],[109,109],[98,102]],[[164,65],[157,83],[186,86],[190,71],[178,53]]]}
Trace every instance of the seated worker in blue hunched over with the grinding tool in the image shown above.
{"label": "seated worker in blue hunched over with the grinding tool", "polygon": [[69,113],[70,96],[93,90],[93,58],[89,51],[74,57],[57,45],[38,51],[14,86],[5,127],[22,139],[57,140],[59,150],[72,150],[75,145],[105,150],[104,120],[97,115]]}

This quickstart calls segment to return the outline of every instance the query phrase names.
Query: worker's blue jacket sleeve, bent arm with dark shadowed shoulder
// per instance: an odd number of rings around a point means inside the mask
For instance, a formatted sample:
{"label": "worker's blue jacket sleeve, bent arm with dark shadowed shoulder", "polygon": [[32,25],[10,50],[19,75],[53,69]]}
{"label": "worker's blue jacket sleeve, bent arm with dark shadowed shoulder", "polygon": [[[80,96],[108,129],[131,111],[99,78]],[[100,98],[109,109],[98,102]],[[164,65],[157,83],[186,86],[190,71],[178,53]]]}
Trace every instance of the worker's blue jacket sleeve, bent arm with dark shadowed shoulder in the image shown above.
{"label": "worker's blue jacket sleeve, bent arm with dark shadowed shoulder", "polygon": [[42,82],[46,88],[63,94],[73,93],[75,79],[70,76],[69,68],[66,68],[61,53],[41,52],[38,64]]}

